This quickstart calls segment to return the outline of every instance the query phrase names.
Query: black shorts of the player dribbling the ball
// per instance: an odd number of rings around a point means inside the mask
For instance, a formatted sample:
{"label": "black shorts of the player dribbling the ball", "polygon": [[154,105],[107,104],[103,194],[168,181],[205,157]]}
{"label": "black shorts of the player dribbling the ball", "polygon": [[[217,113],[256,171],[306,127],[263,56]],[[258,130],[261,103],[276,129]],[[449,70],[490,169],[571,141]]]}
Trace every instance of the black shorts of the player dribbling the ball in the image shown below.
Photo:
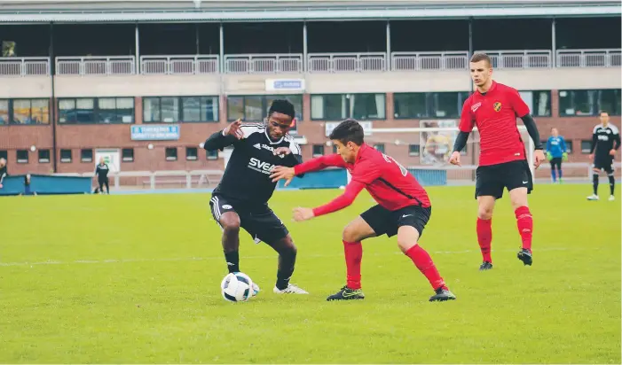
{"label": "black shorts of the player dribbling the ball", "polygon": [[227,212],[235,212],[240,216],[240,227],[245,229],[255,243],[264,241],[268,245],[286,237],[289,231],[272,209],[266,204],[261,206],[245,206],[224,198],[222,195],[212,195],[209,200],[212,216],[220,224],[220,217]]}

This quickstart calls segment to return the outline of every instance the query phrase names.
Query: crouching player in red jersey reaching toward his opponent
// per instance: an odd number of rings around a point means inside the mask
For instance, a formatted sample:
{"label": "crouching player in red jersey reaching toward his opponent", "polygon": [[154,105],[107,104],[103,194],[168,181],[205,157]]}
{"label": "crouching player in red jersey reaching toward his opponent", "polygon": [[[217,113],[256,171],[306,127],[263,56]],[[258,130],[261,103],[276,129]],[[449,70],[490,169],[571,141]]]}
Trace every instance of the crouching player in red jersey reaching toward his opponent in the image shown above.
{"label": "crouching player in red jersey reaching toward his opponent", "polygon": [[295,167],[275,167],[271,177],[276,182],[286,179],[286,186],[295,175],[326,167],[344,167],[352,179],[340,197],[316,208],[295,208],[295,221],[306,221],[350,206],[358,193],[366,189],[378,202],[360,214],[343,229],[343,248],[347,266],[347,284],[327,300],[364,299],[361,290],[360,265],[363,257],[361,241],[369,238],[398,235],[398,246],[428,278],[436,294],[429,301],[456,299],[447,288],[438,270],[417,241],[428,223],[432,208],[428,194],[413,175],[395,159],[376,151],[363,141],[363,128],[357,120],[343,120],[329,138],[337,146],[332,155],[310,159]]}

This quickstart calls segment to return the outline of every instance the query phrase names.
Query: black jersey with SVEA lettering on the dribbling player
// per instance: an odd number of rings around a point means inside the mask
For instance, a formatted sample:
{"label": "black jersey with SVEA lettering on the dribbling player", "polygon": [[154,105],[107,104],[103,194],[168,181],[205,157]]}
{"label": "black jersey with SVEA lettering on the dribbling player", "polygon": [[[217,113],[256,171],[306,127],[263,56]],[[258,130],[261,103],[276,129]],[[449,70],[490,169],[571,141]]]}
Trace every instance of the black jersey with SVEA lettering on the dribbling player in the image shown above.
{"label": "black jersey with SVEA lettering on the dribbling player", "polygon": [[[205,141],[203,148],[208,151],[222,151],[224,147],[233,146],[223,179],[218,183],[214,194],[223,195],[244,205],[263,205],[272,197],[277,184],[270,178],[272,168],[294,167],[301,163],[303,157],[300,146],[289,135],[272,142],[264,124],[242,124],[240,129],[244,132],[244,137],[240,140],[235,136],[223,136],[221,130]],[[292,153],[275,156],[273,151],[279,147],[287,147]]]}

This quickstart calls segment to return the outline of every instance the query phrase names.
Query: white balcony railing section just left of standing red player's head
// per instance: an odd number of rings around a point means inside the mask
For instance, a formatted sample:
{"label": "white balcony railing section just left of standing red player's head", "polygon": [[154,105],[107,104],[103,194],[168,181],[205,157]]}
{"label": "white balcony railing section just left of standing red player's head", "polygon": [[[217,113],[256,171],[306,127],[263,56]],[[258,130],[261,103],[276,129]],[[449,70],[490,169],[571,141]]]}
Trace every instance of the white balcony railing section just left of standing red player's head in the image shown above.
{"label": "white balcony railing section just left of standing red player's head", "polygon": [[432,71],[468,69],[468,51],[391,52],[392,71]]}

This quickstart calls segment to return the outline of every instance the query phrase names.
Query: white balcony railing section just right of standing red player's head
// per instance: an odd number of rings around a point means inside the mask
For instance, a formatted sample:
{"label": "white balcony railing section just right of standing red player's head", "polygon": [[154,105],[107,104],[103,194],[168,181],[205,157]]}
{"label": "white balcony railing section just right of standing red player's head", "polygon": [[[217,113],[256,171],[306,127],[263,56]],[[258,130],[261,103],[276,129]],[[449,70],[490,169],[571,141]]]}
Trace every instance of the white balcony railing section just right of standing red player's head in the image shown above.
{"label": "white balcony railing section just right of standing red player's head", "polygon": [[493,68],[549,68],[550,50],[478,50],[490,56]]}

